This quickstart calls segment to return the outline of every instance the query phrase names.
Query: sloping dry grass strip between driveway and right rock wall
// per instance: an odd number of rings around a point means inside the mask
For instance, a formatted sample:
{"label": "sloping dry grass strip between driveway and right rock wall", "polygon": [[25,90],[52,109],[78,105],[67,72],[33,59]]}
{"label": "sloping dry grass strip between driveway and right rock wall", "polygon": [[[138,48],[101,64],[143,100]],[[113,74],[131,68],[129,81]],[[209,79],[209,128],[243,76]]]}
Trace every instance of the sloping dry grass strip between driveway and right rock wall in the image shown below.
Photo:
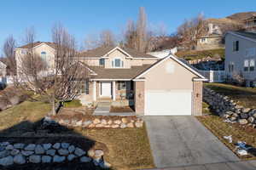
{"label": "sloping dry grass strip between driveway and right rock wall", "polygon": [[[248,126],[241,126],[238,123],[223,122],[224,119],[210,111],[208,105],[204,105],[203,111],[209,111],[205,116],[197,116],[197,119],[218,137],[230,150],[236,153],[237,141],[245,141],[249,146],[256,148],[256,129]],[[224,136],[232,136],[233,142],[229,143]],[[237,154],[236,154],[237,155]],[[238,156],[238,155],[237,155]],[[249,155],[239,156],[243,160],[256,159],[256,150],[250,150]]]}

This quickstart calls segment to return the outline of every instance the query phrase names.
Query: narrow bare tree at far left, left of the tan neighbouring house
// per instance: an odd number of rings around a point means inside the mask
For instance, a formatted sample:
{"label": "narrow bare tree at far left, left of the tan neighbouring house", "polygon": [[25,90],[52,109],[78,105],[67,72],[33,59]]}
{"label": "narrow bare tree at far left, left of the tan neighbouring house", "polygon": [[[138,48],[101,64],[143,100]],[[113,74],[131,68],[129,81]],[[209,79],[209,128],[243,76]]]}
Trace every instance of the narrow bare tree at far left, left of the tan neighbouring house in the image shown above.
{"label": "narrow bare tree at far left, left of the tan neighbouring house", "polygon": [[15,38],[13,36],[7,37],[3,43],[3,54],[5,55],[6,65],[10,75],[15,75],[16,73],[15,48]]}

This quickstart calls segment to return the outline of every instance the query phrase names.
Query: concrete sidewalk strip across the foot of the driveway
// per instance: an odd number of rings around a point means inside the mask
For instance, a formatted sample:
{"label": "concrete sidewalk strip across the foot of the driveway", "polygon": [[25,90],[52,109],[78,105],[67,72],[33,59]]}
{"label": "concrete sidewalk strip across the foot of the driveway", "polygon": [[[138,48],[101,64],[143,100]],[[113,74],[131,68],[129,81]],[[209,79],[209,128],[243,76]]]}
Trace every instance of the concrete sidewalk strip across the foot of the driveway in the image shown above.
{"label": "concrete sidewalk strip across the foot of the driveway", "polygon": [[[210,163],[185,167],[154,168],[150,170],[255,170],[256,161],[235,161],[225,163]],[[148,169],[149,170],[149,169]]]}

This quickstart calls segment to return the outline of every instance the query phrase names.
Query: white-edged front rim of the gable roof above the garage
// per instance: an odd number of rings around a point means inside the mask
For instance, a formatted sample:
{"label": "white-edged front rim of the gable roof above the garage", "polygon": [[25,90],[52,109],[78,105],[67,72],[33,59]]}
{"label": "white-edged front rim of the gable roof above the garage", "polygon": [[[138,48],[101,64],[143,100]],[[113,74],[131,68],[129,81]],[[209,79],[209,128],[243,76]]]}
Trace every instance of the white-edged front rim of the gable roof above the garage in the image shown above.
{"label": "white-edged front rim of the gable roof above the garage", "polygon": [[160,65],[161,63],[163,63],[166,59],[173,59],[174,61],[177,61],[178,64],[182,65],[184,68],[188,69],[190,72],[194,73],[197,77],[199,77],[199,79],[201,80],[207,80],[207,78],[203,77],[198,71],[196,71],[196,69],[192,66],[189,65],[187,62],[182,61],[180,59],[177,59],[176,56],[174,56],[173,54],[170,54],[168,56],[166,56],[163,59],[158,60],[157,62],[155,62],[153,65],[151,65],[150,67],[148,67],[148,69],[146,69],[145,71],[143,71],[141,74],[139,74],[137,77],[135,77],[135,79],[140,79],[143,77],[144,74],[146,74],[148,71],[150,71],[152,68],[154,68],[156,65]]}

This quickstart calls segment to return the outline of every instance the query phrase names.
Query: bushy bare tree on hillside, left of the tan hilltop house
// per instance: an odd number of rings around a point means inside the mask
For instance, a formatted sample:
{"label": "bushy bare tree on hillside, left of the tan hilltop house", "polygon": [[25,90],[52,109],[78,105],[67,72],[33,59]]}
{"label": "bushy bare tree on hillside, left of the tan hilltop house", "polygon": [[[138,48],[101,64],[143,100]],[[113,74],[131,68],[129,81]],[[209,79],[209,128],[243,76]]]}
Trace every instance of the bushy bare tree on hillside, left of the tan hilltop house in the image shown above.
{"label": "bushy bare tree on hillside, left of the tan hilltop house", "polygon": [[177,28],[177,35],[181,39],[181,45],[184,48],[195,48],[197,39],[205,35],[207,25],[202,14],[195,18],[185,20],[181,26]]}

